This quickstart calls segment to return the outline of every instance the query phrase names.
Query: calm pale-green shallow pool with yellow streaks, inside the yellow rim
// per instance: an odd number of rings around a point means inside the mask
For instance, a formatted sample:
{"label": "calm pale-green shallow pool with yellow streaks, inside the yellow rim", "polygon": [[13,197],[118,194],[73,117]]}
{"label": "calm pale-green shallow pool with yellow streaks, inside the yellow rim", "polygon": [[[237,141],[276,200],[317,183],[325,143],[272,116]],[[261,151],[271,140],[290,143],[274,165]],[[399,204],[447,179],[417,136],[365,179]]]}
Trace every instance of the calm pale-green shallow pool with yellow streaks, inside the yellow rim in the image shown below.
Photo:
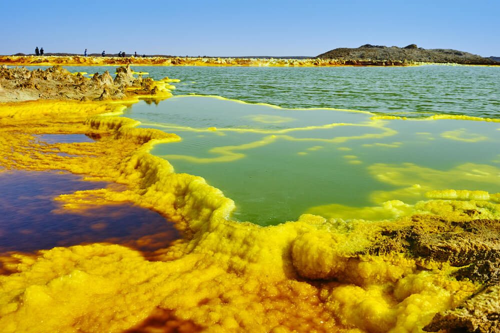
{"label": "calm pale-green shallow pool with yellow streaks, inside the yellow rim", "polygon": [[178,134],[181,141],[152,153],[221,189],[236,203],[233,218],[261,225],[303,213],[395,218],[430,191],[500,187],[497,122],[390,119],[201,96],[137,104],[126,115]]}

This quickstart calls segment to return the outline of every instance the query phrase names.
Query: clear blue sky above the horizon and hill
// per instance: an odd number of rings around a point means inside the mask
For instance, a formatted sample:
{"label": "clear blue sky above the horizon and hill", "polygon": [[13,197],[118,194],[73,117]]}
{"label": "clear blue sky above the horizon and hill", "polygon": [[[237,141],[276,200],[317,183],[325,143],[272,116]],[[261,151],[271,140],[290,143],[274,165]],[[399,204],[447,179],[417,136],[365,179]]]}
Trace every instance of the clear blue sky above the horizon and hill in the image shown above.
{"label": "clear blue sky above the horizon and hill", "polygon": [[500,1],[5,1],[0,54],[316,56],[363,44],[500,57]]}

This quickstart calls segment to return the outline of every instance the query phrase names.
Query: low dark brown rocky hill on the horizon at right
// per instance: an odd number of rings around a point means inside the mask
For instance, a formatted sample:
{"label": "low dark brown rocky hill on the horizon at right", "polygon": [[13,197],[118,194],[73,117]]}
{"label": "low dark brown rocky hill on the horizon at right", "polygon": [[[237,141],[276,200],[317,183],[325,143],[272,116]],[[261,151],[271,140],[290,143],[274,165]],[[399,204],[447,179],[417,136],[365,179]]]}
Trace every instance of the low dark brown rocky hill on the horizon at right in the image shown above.
{"label": "low dark brown rocky hill on the horizon at right", "polygon": [[357,49],[339,48],[317,56],[320,59],[354,61],[395,61],[403,63],[455,63],[466,65],[500,65],[491,58],[450,49],[422,49],[415,44],[396,46],[363,45]]}

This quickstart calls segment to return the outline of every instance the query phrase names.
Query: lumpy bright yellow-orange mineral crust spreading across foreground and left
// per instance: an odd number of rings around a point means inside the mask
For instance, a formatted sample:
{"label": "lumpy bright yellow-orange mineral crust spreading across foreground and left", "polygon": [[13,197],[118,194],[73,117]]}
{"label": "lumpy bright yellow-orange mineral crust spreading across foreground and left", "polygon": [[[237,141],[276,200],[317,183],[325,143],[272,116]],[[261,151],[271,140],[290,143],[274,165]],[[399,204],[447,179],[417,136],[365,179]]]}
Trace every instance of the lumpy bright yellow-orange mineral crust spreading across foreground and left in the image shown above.
{"label": "lumpy bright yellow-orange mineral crust spreading across foreground and left", "polygon": [[[269,227],[229,220],[234,203],[220,190],[200,177],[174,173],[167,161],[149,154],[155,143],[179,138],[109,116],[122,109],[105,102],[0,105],[0,163],[125,184],[120,191],[77,191],[57,200],[65,209],[132,201],[175,222],[184,238],[147,258],[113,244],[2,257],[10,274],[0,276],[0,331],[119,332],[140,326],[160,308],[170,319],[213,332],[418,332],[435,313],[477,289],[451,277],[445,263],[423,269],[421,259],[404,251],[370,254],[383,230],[411,225],[410,219],[346,223],[304,214]],[[73,144],[32,140],[44,133],[101,138]],[[406,185],[403,176],[393,182]],[[485,198],[479,194],[429,196]],[[456,215],[474,205],[485,216],[498,216],[498,204],[484,201],[433,200],[417,208]]]}

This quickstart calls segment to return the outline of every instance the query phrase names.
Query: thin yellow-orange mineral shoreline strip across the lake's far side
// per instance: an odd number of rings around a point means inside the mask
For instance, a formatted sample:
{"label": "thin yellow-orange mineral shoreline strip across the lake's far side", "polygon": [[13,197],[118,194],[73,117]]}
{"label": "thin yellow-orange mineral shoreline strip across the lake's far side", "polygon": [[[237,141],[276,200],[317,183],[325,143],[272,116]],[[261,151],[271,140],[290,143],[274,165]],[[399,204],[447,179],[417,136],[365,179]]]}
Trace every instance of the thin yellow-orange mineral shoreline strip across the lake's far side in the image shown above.
{"label": "thin yellow-orange mineral shoreline strip across the lake's far side", "polygon": [[363,59],[281,59],[281,58],[203,58],[203,57],[83,57],[83,56],[0,56],[0,65],[11,66],[237,66],[237,67],[339,67],[339,66],[419,66],[456,64],[500,66],[500,63],[433,63]]}

